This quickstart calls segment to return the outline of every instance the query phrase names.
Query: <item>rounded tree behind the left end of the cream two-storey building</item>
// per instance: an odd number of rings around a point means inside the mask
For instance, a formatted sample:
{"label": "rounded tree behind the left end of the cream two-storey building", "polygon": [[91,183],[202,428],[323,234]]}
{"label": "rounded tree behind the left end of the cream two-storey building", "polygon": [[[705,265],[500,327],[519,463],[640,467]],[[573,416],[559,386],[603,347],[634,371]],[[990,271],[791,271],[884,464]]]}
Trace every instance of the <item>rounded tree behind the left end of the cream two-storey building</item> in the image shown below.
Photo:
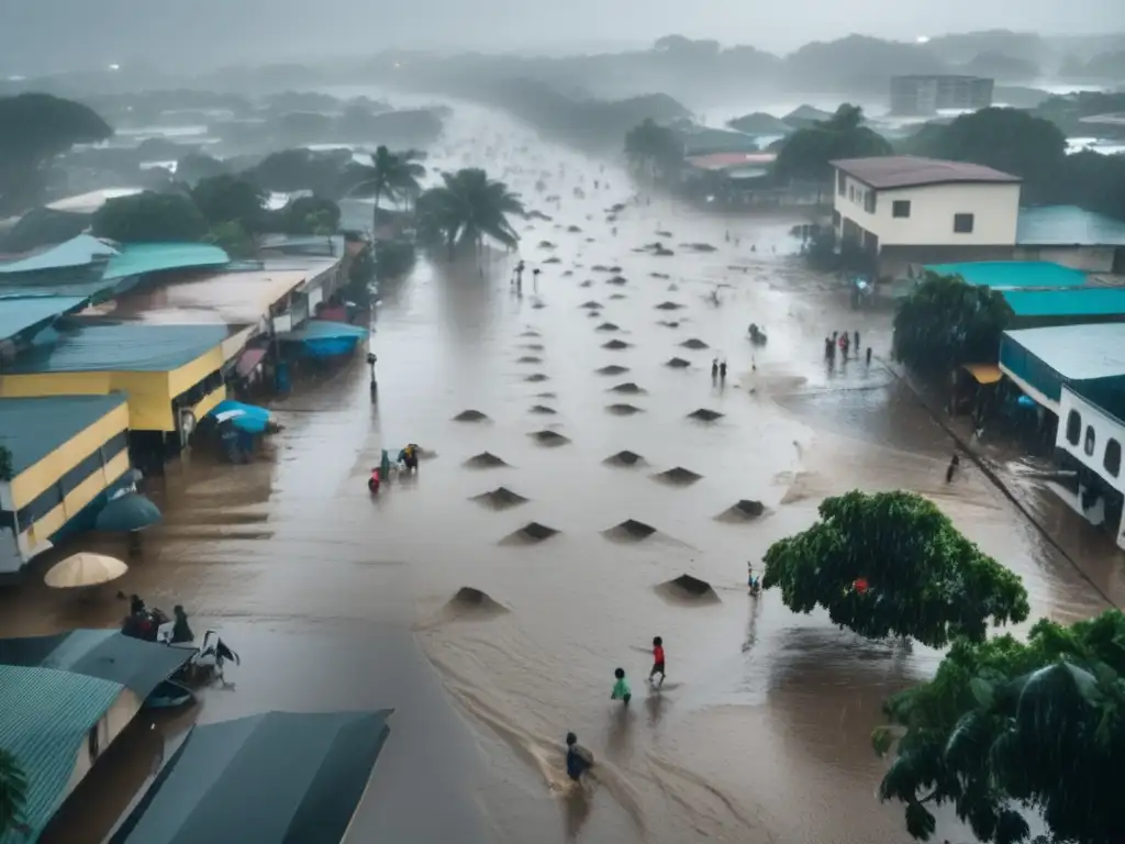
{"label": "rounded tree behind the left end of the cream two-storey building", "polygon": [[781,181],[827,181],[832,178],[831,162],[890,155],[890,142],[863,125],[863,109],[845,102],[827,120],[799,129],[785,138],[774,177]]}

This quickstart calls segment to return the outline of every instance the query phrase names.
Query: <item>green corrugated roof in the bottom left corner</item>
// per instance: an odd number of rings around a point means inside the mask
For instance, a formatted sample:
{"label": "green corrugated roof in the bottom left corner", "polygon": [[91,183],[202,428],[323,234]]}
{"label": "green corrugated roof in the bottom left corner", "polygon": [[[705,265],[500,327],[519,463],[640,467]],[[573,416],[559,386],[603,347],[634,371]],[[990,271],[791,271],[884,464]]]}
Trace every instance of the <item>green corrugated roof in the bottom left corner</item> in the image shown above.
{"label": "green corrugated roof in the bottom left corner", "polygon": [[27,775],[28,833],[0,835],[0,844],[35,842],[57,811],[87,734],[124,686],[53,668],[0,665],[0,747]]}

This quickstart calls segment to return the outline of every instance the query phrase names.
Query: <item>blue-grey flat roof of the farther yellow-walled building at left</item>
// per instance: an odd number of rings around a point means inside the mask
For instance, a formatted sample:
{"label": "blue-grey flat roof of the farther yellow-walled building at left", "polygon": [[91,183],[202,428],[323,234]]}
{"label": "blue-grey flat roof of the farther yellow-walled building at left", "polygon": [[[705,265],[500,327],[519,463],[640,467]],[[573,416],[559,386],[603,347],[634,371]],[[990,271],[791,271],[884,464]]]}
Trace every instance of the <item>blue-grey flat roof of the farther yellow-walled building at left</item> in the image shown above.
{"label": "blue-grey flat roof of the farther yellow-walled building at left", "polygon": [[191,362],[226,336],[225,325],[87,323],[20,352],[4,371],[163,372]]}

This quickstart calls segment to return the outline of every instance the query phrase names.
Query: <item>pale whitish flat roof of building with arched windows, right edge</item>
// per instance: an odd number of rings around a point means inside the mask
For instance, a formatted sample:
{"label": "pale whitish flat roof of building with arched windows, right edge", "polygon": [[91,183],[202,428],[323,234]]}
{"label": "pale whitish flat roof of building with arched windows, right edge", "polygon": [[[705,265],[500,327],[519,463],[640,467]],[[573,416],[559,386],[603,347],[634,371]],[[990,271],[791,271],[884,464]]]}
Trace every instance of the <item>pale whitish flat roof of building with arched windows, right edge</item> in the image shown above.
{"label": "pale whitish flat roof of building with arched windows, right edge", "polygon": [[1019,329],[1004,334],[1066,380],[1125,375],[1125,323]]}

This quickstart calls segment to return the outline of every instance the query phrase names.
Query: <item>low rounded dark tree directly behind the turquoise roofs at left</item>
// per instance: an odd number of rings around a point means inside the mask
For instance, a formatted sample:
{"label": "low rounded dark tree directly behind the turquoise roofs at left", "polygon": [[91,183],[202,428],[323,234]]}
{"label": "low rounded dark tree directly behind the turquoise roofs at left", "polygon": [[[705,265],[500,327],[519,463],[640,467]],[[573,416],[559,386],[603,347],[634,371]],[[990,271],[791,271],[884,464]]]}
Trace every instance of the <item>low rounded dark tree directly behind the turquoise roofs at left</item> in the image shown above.
{"label": "low rounded dark tree directly behind the turquoise roofs at left", "polygon": [[207,218],[183,194],[145,191],[110,199],[90,223],[97,237],[122,243],[198,241],[207,233]]}

